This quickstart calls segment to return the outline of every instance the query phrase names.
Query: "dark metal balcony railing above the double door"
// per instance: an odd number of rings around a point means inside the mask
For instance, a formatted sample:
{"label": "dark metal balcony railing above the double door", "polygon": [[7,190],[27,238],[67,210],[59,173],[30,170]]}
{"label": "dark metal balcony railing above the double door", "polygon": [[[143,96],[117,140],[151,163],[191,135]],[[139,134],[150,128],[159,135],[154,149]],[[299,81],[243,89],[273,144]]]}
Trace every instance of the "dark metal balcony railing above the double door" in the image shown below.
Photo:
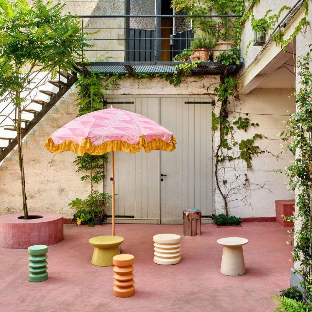
{"label": "dark metal balcony railing above the double door", "polygon": [[[222,26],[217,31],[225,34],[222,37],[210,37],[208,40],[222,40],[238,43],[240,38],[233,38],[239,27],[234,20],[240,15],[97,15],[80,16],[82,25],[87,26],[84,32],[95,32],[89,36],[88,43],[92,48],[82,51],[81,63],[89,61],[88,67],[99,72],[133,73],[135,72],[174,72],[174,57],[184,49],[189,49],[191,40],[203,29],[194,26],[196,18],[210,18]],[[192,21],[190,20],[192,19]],[[226,21],[226,23],[224,23]],[[216,28],[216,27],[213,27]],[[204,29],[208,31],[209,29]],[[210,29],[212,30],[212,29]],[[216,29],[214,29],[216,30]],[[225,51],[213,48],[211,51]],[[230,74],[236,74],[242,67],[233,64]],[[204,67],[203,67],[204,66]],[[212,59],[203,61],[194,74],[221,74],[224,67]]]}

